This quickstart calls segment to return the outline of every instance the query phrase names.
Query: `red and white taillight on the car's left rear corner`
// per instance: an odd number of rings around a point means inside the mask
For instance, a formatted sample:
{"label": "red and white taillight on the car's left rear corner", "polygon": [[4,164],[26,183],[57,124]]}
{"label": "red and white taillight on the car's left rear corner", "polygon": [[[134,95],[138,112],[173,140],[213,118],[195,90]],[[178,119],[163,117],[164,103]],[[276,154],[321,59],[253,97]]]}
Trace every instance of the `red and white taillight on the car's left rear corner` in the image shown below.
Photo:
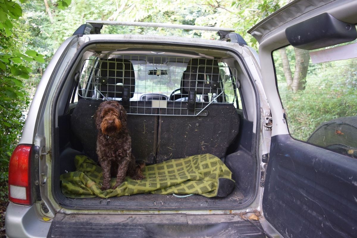
{"label": "red and white taillight on the car's left rear corner", "polygon": [[9,164],[9,199],[13,203],[31,204],[30,145],[18,145],[12,152]]}

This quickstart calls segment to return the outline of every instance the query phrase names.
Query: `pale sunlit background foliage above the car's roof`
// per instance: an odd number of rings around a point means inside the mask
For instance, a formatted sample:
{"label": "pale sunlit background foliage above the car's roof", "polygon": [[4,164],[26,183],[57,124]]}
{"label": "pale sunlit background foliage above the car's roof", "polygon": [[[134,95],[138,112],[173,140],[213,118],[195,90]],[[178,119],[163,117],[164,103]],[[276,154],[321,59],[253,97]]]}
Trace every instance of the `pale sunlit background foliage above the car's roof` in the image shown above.
{"label": "pale sunlit background foliage above the car's roof", "polygon": [[[47,2],[45,4],[44,2]],[[35,0],[24,5],[26,20],[33,27],[35,49],[49,57],[85,20],[141,21],[199,26],[229,27],[246,38],[251,46],[256,41],[246,33],[267,15],[281,7],[282,1],[251,0],[75,0],[62,9],[59,1]],[[102,33],[161,34],[210,39],[212,32],[178,29],[104,26]],[[218,37],[218,36],[214,36]]]}

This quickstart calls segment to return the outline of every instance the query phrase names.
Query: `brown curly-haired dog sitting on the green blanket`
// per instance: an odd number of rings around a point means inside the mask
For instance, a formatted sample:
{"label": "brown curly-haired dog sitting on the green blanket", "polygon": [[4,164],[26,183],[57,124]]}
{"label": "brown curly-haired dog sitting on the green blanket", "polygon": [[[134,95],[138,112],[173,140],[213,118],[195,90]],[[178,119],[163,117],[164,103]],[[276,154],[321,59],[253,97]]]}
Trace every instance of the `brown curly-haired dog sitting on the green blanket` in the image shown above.
{"label": "brown curly-haired dog sitting on the green blanket", "polygon": [[103,169],[101,189],[110,188],[111,173],[116,176],[115,189],[128,175],[140,180],[144,176],[141,168],[145,164],[136,164],[131,153],[131,137],[126,127],[126,111],[117,101],[102,102],[95,113],[95,124],[98,129],[97,155]]}

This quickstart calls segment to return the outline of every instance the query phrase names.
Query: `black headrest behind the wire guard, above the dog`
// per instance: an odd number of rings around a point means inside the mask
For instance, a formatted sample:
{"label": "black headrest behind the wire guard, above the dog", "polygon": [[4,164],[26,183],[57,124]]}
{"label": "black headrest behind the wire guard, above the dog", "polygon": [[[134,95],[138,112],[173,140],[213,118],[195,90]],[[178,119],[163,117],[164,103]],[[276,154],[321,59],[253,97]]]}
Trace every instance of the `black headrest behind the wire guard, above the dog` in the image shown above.
{"label": "black headrest behind the wire guard, above the dog", "polygon": [[129,60],[101,59],[99,68],[98,90],[105,97],[122,98],[123,91],[134,96],[135,73]]}

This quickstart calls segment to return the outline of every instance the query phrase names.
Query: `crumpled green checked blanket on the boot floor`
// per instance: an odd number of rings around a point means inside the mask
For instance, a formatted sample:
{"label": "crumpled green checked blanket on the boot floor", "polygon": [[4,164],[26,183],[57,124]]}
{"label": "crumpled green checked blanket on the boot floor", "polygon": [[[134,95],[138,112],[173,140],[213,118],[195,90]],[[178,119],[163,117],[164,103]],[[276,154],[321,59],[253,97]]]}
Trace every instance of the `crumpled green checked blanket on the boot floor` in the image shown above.
{"label": "crumpled green checked blanket on the boot floor", "polygon": [[[71,198],[156,194],[201,194],[205,197],[223,197],[229,194],[234,181],[232,172],[216,156],[205,154],[182,159],[171,159],[146,166],[145,179],[136,181],[126,177],[116,189],[101,191],[102,168],[90,158],[75,156],[76,172],[62,174],[62,193]],[[112,186],[115,184],[112,178]],[[221,187],[221,189],[219,189]]]}

